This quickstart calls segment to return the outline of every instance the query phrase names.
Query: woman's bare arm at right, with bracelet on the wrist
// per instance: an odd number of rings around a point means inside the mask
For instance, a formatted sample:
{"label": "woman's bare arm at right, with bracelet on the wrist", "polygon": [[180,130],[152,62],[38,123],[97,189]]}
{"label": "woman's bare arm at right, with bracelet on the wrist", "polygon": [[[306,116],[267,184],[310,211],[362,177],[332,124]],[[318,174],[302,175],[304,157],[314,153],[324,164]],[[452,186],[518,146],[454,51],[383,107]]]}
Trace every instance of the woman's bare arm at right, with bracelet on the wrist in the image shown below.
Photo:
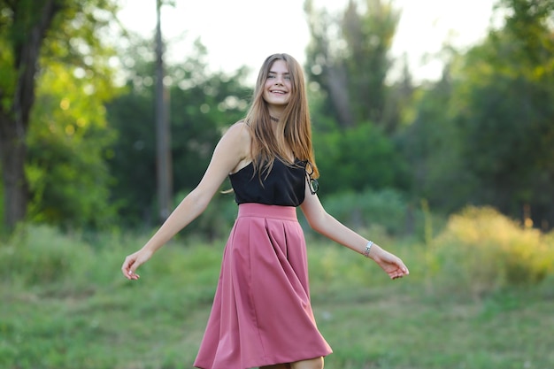
{"label": "woman's bare arm at right, with bracelet on the wrist", "polygon": [[[304,202],[300,207],[310,227],[319,234],[323,234],[351,250],[364,254],[369,241],[328,214],[319,201],[319,197],[312,194],[309,186],[306,186],[305,192]],[[410,273],[400,258],[387,250],[383,250],[376,243],[371,245],[367,257],[372,258],[392,279],[402,278]]]}

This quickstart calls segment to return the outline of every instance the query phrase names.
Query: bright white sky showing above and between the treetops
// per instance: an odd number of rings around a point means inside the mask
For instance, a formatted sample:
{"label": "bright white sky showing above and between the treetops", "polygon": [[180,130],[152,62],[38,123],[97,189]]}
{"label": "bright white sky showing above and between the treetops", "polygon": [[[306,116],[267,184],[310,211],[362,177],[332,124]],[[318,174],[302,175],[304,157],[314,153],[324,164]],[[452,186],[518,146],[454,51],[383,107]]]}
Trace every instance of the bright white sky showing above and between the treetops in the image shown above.
{"label": "bright white sky showing above and between the treetops", "polygon": [[[341,10],[348,0],[315,0],[317,7]],[[310,40],[304,0],[174,0],[162,8],[162,25],[172,61],[182,60],[197,37],[208,49],[214,70],[233,71],[242,65],[258,70],[265,57],[288,52],[304,63]],[[131,30],[153,35],[156,0],[121,0],[119,18]],[[423,57],[444,42],[463,48],[485,35],[493,0],[394,0],[402,17],[391,50],[394,58],[408,55],[417,79],[436,79],[438,61]]]}

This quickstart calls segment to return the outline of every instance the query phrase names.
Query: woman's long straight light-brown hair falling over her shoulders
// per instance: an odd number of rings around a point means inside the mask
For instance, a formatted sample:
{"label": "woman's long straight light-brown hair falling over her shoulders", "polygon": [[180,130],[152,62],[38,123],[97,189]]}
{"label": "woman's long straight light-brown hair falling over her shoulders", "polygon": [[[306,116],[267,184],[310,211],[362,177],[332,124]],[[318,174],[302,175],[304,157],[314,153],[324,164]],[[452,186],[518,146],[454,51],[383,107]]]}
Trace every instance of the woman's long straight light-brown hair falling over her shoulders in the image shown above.
{"label": "woman's long straight light-brown hair falling over her shoulders", "polygon": [[[277,122],[274,135],[272,127],[275,123],[271,121],[268,105],[263,95],[265,81],[276,60],[283,60],[287,63],[292,87],[289,91],[289,104]],[[304,72],[295,58],[289,54],[273,54],[265,59],[258,73],[258,81],[256,81],[256,88],[245,121],[252,131],[250,155],[255,172],[269,173],[275,158],[293,165],[289,159],[290,150],[292,150],[295,158],[310,161],[313,166],[312,178],[319,176],[312,148],[312,122]]]}

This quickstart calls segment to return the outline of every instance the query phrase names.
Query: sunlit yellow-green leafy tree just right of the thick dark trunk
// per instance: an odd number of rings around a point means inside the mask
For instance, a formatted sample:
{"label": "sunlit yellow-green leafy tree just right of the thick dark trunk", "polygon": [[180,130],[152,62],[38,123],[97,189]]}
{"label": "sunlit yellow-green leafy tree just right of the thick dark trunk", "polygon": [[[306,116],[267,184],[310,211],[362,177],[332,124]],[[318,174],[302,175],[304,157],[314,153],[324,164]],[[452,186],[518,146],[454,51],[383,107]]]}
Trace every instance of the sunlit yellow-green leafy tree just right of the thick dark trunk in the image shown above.
{"label": "sunlit yellow-green leafy tree just right of the thick dark trunk", "polygon": [[93,73],[50,62],[27,134],[29,219],[63,227],[113,224],[106,157],[113,131],[104,101],[114,89]]}

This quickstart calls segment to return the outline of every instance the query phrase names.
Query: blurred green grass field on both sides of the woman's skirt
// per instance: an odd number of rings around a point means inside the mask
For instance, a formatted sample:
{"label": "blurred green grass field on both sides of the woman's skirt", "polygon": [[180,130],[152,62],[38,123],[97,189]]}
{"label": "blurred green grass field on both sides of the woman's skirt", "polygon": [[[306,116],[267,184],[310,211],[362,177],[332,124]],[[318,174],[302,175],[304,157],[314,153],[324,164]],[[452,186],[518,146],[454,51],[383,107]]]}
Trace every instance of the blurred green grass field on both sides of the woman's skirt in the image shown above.
{"label": "blurred green grass field on both sides of the woman's skirt", "polygon": [[[466,227],[472,234],[473,226]],[[551,269],[527,258],[542,279],[464,278],[490,265],[453,267],[464,237],[458,229],[453,242],[445,232],[427,245],[380,237],[410,266],[411,275],[398,281],[348,249],[309,238],[312,304],[335,351],[326,368],[554,367]],[[446,239],[455,246],[451,252]],[[191,368],[223,241],[178,238],[143,266],[140,281],[127,281],[119,267],[145,240],[101,234],[86,242],[79,234],[30,227],[0,246],[0,368]],[[533,246],[550,265],[551,240],[545,235]],[[487,288],[475,293],[473,282]]]}

